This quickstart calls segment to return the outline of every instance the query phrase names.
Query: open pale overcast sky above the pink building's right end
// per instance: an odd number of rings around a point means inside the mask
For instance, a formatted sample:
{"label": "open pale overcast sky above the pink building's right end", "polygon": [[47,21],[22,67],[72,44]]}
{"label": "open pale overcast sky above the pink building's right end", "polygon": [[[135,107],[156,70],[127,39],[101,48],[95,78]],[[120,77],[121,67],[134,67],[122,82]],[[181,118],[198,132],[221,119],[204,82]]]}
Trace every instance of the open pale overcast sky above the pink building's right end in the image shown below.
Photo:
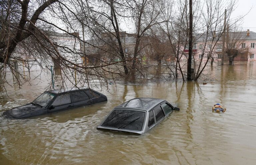
{"label": "open pale overcast sky above the pink building's right end", "polygon": [[[251,11],[248,13],[248,11]],[[243,20],[242,30],[250,29],[250,31],[256,32],[256,0],[238,0],[237,8],[232,14],[232,17],[245,15],[248,13]]]}

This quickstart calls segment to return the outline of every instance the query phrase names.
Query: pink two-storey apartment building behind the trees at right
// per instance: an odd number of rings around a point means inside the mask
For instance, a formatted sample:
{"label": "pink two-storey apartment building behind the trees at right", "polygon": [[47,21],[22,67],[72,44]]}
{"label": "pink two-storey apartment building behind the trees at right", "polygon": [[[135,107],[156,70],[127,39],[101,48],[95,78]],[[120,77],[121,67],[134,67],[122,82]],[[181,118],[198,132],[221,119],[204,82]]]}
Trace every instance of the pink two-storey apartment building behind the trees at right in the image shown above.
{"label": "pink two-storey apartment building behind the trees at right", "polygon": [[[223,37],[220,37],[218,41],[213,39],[213,36],[208,36],[207,42],[205,42],[205,34],[200,34],[193,43],[193,54],[195,60],[201,60],[201,58],[207,59],[207,55],[211,52],[211,56],[214,61],[220,61],[223,56]],[[256,61],[256,33],[250,32],[248,29],[246,32],[229,32],[226,34],[224,47],[224,61],[228,62],[229,58],[226,53],[228,49],[237,50],[238,54],[235,55],[233,61]],[[236,51],[234,51],[236,52]],[[188,54],[188,45],[185,47],[184,53]],[[205,61],[205,60],[204,60]]]}

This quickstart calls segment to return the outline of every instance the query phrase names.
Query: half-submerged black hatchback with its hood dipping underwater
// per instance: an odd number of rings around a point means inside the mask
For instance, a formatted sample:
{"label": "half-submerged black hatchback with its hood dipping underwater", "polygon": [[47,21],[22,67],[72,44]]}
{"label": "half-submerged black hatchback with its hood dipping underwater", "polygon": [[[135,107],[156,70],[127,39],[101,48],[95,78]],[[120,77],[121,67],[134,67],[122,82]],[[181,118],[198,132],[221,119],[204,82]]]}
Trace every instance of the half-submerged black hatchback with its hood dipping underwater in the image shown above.
{"label": "half-submerged black hatchback with its hood dipping underwater", "polygon": [[9,109],[8,118],[24,118],[107,101],[107,96],[92,89],[52,90],[42,93],[33,102]]}

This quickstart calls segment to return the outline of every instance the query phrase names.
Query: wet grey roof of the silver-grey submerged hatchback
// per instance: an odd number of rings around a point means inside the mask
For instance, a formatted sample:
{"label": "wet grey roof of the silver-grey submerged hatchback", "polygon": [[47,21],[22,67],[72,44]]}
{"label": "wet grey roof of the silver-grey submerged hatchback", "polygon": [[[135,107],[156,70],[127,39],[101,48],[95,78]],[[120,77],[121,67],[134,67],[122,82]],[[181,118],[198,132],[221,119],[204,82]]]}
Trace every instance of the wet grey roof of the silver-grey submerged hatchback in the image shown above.
{"label": "wet grey roof of the silver-grey submerged hatchback", "polygon": [[163,102],[163,99],[157,98],[134,98],[129,101],[126,101],[115,108],[132,108],[132,109],[143,109],[143,110],[151,110],[157,104]]}

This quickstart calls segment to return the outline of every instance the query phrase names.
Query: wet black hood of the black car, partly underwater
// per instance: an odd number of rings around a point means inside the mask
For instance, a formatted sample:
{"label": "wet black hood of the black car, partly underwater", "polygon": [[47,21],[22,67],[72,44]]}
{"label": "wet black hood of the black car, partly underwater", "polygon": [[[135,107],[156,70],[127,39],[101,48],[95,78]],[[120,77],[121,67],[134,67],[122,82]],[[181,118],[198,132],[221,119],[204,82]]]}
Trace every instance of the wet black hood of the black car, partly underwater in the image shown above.
{"label": "wet black hood of the black car, partly underwater", "polygon": [[26,117],[32,112],[38,111],[40,109],[43,109],[43,107],[38,107],[38,106],[35,106],[34,104],[29,103],[19,107],[9,109],[5,111],[3,115],[6,115],[8,118],[17,119],[17,118]]}

